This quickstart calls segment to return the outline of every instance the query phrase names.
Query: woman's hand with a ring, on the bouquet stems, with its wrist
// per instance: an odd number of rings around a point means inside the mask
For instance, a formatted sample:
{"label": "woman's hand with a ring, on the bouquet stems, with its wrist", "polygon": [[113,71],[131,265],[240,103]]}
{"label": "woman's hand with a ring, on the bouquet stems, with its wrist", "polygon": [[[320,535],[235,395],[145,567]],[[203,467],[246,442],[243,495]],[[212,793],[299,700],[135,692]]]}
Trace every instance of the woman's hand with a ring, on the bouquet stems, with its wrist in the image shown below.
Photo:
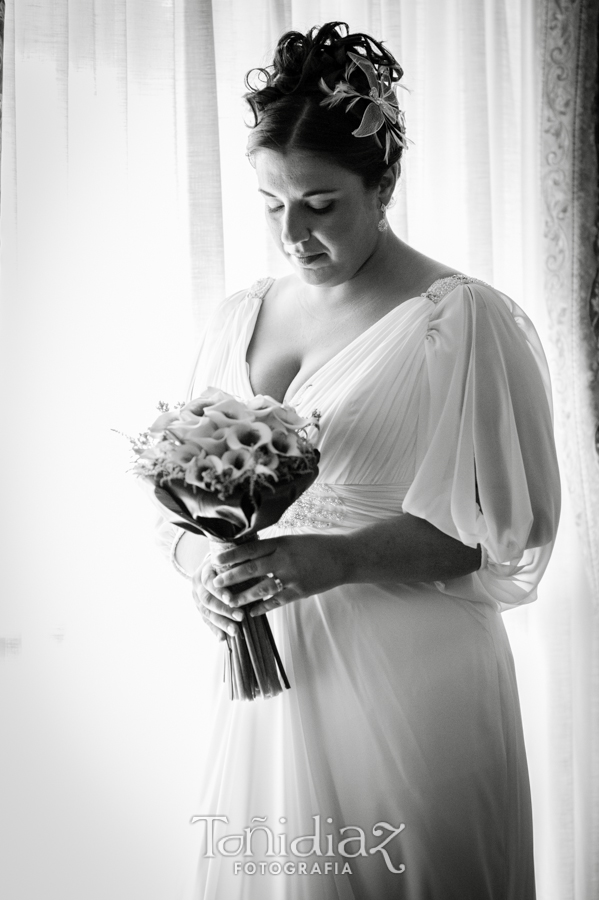
{"label": "woman's hand with a ring, on the bouquet stems, with its wrist", "polygon": [[[232,568],[220,575],[209,568],[204,586],[231,607],[262,601],[251,612],[259,616],[343,584],[343,540],[340,535],[298,534],[240,544],[213,558],[213,565]],[[254,578],[260,580],[240,594],[229,590]]]}

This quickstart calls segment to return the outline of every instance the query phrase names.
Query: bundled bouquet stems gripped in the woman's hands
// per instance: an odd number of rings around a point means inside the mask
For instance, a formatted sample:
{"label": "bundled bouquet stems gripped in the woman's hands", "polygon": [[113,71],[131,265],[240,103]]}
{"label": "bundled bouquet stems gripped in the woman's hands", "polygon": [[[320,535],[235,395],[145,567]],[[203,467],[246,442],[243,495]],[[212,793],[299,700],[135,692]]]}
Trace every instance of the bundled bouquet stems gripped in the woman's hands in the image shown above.
{"label": "bundled bouquet stems gripped in the woman's hands", "polygon": [[[210,540],[210,552],[228,550],[247,541],[256,540],[257,535],[245,535],[236,541]],[[224,572],[231,566],[213,566],[218,573]],[[242,590],[256,584],[260,579],[255,578],[245,581],[243,584],[233,585],[229,590],[238,594]],[[240,632],[232,637],[226,637],[225,674],[232,700],[254,700],[256,697],[276,697],[284,688],[289,688],[289,680],[283,668],[283,663],[270,624],[266,615],[251,616],[250,610],[255,606],[249,603],[244,607],[244,618],[239,622]]]}

